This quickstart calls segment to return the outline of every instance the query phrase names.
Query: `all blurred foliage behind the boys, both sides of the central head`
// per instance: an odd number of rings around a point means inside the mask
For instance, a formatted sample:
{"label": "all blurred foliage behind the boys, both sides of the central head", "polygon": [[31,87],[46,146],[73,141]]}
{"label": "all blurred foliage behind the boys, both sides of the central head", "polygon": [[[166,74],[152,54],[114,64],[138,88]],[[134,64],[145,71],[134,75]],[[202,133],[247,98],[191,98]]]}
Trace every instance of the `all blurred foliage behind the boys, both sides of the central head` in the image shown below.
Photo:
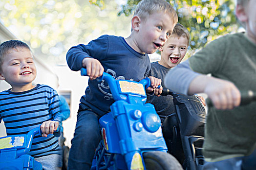
{"label": "all blurred foliage behind the boys, both sides of the central head", "polygon": [[[0,21],[48,62],[102,34],[128,36],[140,0],[1,0]],[[233,0],[167,0],[188,28],[187,57],[220,35],[236,32]]]}

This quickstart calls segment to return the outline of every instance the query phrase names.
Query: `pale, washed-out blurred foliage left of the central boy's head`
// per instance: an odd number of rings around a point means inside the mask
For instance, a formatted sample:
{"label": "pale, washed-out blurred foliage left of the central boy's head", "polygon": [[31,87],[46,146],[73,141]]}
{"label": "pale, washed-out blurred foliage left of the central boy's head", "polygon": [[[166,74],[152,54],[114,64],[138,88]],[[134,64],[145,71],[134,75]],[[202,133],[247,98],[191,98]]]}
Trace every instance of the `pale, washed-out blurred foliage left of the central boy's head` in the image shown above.
{"label": "pale, washed-out blurred foliage left of the central boy's head", "polygon": [[[130,17],[118,0],[0,0],[0,21],[47,63],[65,64],[66,52],[102,34],[128,36]],[[92,5],[97,4],[98,6]]]}

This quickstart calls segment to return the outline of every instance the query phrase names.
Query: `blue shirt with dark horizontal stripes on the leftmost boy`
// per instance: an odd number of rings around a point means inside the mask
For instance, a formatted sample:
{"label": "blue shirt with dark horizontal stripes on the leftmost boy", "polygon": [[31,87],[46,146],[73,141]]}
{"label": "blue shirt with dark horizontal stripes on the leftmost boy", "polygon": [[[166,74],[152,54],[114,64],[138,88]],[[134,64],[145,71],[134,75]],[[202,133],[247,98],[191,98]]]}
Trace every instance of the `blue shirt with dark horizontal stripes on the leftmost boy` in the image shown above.
{"label": "blue shirt with dark horizontal stripes on the leftmost boy", "polygon": [[[7,135],[26,134],[39,127],[44,121],[62,121],[60,98],[53,88],[36,85],[24,92],[12,92],[10,89],[0,93],[0,122],[4,121]],[[34,136],[30,155],[34,157],[60,154],[58,137],[49,134]]]}

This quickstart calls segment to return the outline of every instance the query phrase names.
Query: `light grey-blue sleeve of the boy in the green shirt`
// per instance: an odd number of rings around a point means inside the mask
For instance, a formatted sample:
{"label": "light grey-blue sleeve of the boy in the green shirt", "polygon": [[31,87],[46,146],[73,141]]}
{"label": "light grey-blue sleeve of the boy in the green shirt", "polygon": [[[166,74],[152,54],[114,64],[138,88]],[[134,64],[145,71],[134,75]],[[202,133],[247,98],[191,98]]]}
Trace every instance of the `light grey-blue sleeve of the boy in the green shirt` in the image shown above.
{"label": "light grey-blue sleeve of the boy in the green shirt", "polygon": [[175,93],[188,95],[190,83],[198,75],[190,68],[189,60],[186,60],[167,73],[165,86]]}

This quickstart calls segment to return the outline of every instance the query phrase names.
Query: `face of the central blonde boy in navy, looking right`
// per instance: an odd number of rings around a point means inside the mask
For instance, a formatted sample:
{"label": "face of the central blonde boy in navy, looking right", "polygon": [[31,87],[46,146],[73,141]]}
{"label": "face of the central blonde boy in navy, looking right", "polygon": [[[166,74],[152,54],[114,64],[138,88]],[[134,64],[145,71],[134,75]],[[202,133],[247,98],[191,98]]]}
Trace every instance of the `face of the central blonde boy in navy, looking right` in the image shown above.
{"label": "face of the central blonde boy in navy, looking right", "polygon": [[137,48],[140,53],[151,54],[166,42],[175,24],[164,12],[155,12],[139,24]]}

